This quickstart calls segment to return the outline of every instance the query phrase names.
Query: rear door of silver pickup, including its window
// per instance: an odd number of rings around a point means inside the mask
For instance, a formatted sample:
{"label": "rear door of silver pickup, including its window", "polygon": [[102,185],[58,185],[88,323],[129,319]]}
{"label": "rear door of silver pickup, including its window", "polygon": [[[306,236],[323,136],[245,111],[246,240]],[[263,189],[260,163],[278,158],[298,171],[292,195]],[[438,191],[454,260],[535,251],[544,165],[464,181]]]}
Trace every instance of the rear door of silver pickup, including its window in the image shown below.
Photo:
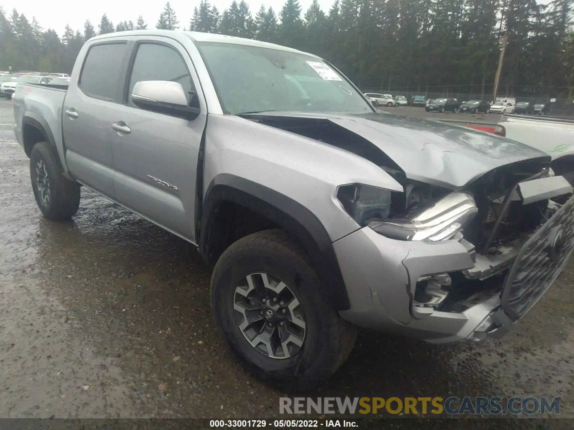
{"label": "rear door of silver pickup, including its window", "polygon": [[68,169],[80,182],[110,197],[114,197],[111,108],[118,103],[127,53],[127,42],[122,40],[91,45],[62,112]]}

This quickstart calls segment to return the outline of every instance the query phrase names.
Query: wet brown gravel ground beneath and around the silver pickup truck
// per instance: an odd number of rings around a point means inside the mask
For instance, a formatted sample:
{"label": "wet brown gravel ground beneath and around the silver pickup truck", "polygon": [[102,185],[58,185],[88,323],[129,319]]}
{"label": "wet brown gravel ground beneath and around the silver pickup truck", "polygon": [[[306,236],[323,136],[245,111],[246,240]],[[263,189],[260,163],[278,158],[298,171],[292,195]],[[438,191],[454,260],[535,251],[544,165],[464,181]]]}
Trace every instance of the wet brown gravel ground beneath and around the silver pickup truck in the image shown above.
{"label": "wet brown gravel ground beneath and around the silver pickup truck", "polygon": [[[0,417],[276,416],[282,393],[219,340],[211,268],[192,245],[85,188],[72,221],[44,220],[12,127],[0,99]],[[572,417],[573,280],[571,262],[498,341],[362,333],[307,395],[561,396]]]}

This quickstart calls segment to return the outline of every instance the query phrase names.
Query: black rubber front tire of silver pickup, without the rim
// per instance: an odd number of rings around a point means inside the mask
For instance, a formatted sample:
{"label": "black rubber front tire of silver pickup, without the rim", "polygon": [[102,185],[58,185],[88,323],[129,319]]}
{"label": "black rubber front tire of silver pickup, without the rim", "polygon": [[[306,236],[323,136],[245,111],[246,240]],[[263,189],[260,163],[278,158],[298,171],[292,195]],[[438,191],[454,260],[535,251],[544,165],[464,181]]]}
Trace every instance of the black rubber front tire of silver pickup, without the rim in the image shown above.
{"label": "black rubber front tire of silver pickup, without the rim", "polygon": [[[304,309],[305,339],[293,357],[262,354],[236,323],[235,288],[257,272],[281,279]],[[286,392],[311,389],[327,380],[355,345],[357,327],[339,316],[330,297],[307,252],[281,229],[263,230],[236,241],[219,258],[211,277],[212,312],[224,341],[246,370]]]}

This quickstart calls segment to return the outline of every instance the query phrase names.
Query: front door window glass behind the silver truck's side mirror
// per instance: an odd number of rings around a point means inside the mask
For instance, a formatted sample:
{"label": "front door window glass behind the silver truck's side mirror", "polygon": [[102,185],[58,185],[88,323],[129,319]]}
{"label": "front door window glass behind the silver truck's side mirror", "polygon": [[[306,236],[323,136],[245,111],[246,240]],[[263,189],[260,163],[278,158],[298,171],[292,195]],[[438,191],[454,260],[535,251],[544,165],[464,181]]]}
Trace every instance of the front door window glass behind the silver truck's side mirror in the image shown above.
{"label": "front door window glass behind the silver truck's side mirror", "polygon": [[[187,96],[188,105],[199,107],[195,95],[195,85],[180,54],[165,45],[145,43],[138,46],[134,65],[131,68],[130,84],[127,93],[127,103],[131,102],[131,92],[139,81],[173,81],[180,83]],[[190,104],[190,100],[193,100]]]}

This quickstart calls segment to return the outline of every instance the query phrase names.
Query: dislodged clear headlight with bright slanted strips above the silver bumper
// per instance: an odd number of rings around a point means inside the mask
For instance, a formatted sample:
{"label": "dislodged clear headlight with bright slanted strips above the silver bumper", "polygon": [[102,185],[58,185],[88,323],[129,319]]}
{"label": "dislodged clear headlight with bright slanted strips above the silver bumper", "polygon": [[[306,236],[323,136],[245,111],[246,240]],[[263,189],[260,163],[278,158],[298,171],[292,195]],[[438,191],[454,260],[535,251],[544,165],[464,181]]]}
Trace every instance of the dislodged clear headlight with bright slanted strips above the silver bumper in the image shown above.
{"label": "dislodged clear headlight with bright slanted strips above the silver bumper", "polygon": [[450,193],[408,220],[371,221],[370,228],[390,239],[447,240],[462,230],[478,212],[468,193]]}

